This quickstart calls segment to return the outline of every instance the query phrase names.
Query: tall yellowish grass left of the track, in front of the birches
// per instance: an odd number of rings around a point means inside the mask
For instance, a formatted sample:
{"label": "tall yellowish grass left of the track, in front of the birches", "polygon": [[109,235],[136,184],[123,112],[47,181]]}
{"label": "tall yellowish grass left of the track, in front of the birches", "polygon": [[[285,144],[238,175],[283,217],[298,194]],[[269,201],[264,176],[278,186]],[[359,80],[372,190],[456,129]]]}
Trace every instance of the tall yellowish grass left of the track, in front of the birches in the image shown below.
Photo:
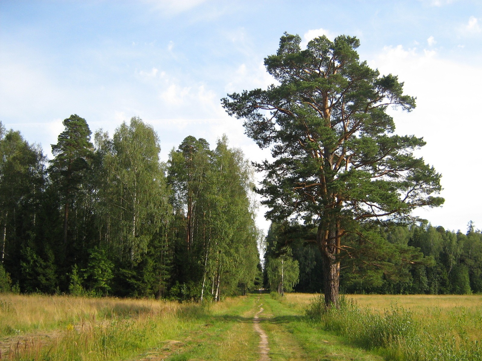
{"label": "tall yellowish grass left of the track, in front of the birches", "polygon": [[156,300],[1,295],[0,359],[132,357],[195,327],[204,310]]}

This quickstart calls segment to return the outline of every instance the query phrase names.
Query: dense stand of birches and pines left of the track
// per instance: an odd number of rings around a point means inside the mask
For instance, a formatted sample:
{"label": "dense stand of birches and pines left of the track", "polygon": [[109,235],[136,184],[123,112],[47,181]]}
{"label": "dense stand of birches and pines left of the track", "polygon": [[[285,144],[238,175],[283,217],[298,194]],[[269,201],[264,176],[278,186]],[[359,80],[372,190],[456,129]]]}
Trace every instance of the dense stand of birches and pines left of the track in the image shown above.
{"label": "dense stand of birches and pines left of the track", "polygon": [[63,124],[47,160],[0,123],[0,291],[218,300],[260,282],[253,170],[226,137],[164,163],[138,117],[94,143]]}

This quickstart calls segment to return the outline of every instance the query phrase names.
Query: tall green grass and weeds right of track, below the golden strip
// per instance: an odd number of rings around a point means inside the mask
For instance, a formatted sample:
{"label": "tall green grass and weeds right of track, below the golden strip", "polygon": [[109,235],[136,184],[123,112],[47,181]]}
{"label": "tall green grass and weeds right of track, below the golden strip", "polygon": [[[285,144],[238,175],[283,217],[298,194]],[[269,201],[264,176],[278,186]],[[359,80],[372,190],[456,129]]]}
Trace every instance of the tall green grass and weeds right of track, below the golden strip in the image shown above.
{"label": "tall green grass and weeds right of track, below the golden strip", "polygon": [[481,309],[431,307],[414,313],[398,304],[387,309],[362,308],[342,298],[340,309],[325,309],[324,298],[307,308],[311,320],[366,349],[392,360],[482,360]]}

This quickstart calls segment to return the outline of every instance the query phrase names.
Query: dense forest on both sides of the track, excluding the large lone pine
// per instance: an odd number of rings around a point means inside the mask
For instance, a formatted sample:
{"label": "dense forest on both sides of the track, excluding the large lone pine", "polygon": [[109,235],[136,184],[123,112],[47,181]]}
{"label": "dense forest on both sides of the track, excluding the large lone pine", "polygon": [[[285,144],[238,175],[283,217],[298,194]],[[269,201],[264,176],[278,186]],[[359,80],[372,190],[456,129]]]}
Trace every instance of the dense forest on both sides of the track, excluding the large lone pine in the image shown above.
{"label": "dense forest on both sides of the track, excluding the large lone pine", "polygon": [[[211,149],[188,136],[164,163],[137,117],[94,143],[83,118],[64,126],[47,160],[0,124],[0,291],[202,300],[323,289],[315,230],[274,222],[262,236],[253,168],[226,137]],[[482,292],[472,222],[465,234],[424,222],[372,228],[348,240],[342,292]]]}

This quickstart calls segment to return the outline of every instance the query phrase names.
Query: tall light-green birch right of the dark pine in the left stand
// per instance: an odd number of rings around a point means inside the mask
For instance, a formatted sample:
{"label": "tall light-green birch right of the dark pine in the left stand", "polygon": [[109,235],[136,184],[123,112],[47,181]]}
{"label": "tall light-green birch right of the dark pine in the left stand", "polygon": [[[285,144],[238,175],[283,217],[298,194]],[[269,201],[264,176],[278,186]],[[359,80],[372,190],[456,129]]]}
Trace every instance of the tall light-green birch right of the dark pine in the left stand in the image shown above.
{"label": "tall light-green birch right of the dark pine in the left stand", "polygon": [[135,266],[169,217],[159,138],[151,126],[133,117],[116,129],[113,139],[97,132],[96,146],[105,177],[100,205],[109,230],[105,242],[116,248],[121,262]]}

